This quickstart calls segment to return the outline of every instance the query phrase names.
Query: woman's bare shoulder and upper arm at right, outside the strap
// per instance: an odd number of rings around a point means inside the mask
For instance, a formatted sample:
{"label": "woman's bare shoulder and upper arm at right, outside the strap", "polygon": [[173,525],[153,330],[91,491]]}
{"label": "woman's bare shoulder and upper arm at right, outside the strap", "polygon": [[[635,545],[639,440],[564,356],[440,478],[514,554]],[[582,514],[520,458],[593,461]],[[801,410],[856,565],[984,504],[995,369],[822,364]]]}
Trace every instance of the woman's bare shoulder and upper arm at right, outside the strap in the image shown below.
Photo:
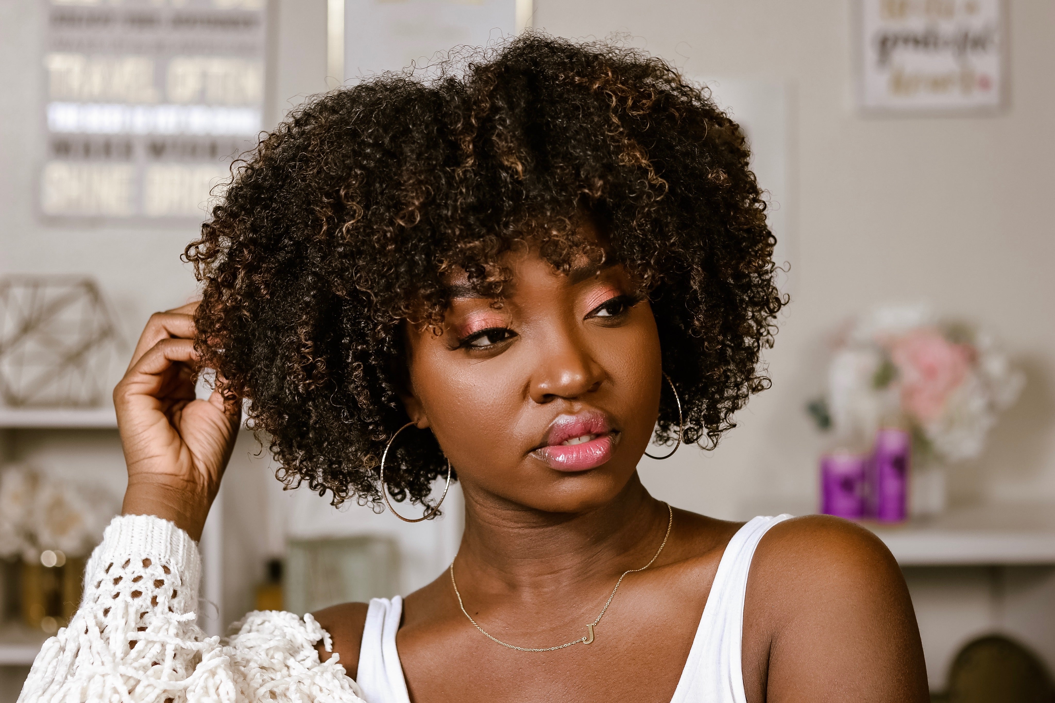
{"label": "woman's bare shoulder and upper arm at right, outside the strap", "polygon": [[759,543],[744,611],[748,700],[926,701],[908,589],[867,529],[809,515]]}

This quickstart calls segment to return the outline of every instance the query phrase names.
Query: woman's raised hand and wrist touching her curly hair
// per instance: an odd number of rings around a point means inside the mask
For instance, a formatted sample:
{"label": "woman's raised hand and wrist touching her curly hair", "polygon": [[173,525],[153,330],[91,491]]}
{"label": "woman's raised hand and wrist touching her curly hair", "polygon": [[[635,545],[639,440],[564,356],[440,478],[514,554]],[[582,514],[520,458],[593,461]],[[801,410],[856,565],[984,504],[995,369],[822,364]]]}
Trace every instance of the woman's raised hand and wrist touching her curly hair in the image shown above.
{"label": "woman's raised hand and wrist touching her curly hair", "polygon": [[124,377],[114,389],[129,485],[124,514],[171,520],[194,540],[231,457],[241,408],[224,409],[213,391],[194,395],[194,310],[197,302],[154,313]]}

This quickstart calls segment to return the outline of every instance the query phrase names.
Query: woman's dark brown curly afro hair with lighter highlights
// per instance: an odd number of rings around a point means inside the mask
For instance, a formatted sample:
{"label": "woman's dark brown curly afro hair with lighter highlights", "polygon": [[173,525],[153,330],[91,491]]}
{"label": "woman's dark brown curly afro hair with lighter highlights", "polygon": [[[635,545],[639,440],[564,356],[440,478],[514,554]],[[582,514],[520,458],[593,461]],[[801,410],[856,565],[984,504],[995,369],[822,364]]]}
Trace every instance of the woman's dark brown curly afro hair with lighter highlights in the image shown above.
{"label": "woman's dark brown curly afro hair with lighter highlights", "polygon": [[[786,302],[748,156],[706,89],[611,42],[530,32],[424,79],[333,91],[244,155],[187,247],[195,347],[231,403],[252,401],[287,486],[377,507],[381,452],[408,422],[403,326],[442,323],[459,268],[500,298],[502,256],[528,237],[558,270],[595,255],[588,213],[651,300],[685,441],[712,448],[768,386],[760,354]],[[665,388],[656,442],[677,423]],[[423,503],[446,463],[411,435],[385,477]]]}

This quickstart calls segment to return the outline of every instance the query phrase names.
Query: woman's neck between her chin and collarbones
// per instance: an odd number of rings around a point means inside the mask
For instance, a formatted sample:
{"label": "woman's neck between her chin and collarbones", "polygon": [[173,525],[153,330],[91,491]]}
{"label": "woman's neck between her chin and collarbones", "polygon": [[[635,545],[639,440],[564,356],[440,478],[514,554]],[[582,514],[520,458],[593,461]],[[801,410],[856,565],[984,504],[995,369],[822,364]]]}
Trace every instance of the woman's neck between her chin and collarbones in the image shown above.
{"label": "woman's neck between her chin and collarbones", "polygon": [[637,474],[612,501],[553,513],[465,491],[465,532],[455,569],[477,592],[544,601],[570,587],[611,587],[648,563],[667,530],[668,508]]}

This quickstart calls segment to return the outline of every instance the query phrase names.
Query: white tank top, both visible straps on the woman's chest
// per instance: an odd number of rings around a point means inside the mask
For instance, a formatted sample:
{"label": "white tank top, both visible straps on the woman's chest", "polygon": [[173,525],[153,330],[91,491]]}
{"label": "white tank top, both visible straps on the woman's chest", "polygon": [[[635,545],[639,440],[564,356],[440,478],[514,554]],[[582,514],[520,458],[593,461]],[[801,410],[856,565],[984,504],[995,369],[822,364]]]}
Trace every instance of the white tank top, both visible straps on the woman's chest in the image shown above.
{"label": "white tank top, both visible straps on the woman's chest", "polygon": [[[762,535],[790,516],[755,518],[729,541],[671,703],[747,703],[741,669],[747,573]],[[356,678],[367,703],[410,703],[396,650],[402,614],[399,595],[370,601]]]}

